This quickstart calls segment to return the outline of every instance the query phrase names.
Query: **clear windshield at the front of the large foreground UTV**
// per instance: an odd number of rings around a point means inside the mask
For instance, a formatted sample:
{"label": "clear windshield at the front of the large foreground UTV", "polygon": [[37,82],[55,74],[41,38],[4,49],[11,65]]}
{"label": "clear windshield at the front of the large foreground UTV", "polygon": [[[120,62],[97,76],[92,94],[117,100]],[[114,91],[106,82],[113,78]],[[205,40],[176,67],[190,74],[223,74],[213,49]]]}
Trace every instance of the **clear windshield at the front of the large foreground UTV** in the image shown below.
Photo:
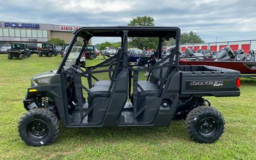
{"label": "clear windshield at the front of the large foreground UTV", "polygon": [[[68,47],[66,47],[66,48],[68,50]],[[78,44],[75,44],[72,46],[71,51],[66,60],[66,63],[64,65],[64,69],[69,69],[70,66],[75,65],[75,62],[76,62],[77,58],[79,57],[81,50],[82,50],[82,47],[78,46]]]}

